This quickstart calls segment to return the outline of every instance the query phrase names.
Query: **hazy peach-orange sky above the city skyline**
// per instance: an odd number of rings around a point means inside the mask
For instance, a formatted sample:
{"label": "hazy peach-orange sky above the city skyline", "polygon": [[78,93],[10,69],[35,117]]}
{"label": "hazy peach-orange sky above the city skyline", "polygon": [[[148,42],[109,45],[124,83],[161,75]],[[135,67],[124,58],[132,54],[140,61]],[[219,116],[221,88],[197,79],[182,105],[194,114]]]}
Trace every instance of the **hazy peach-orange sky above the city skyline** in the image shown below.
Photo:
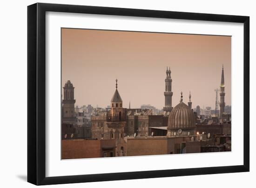
{"label": "hazy peach-orange sky above the city skyline", "polygon": [[193,108],[215,108],[222,64],[225,102],[231,104],[230,36],[66,28],[61,32],[62,86],[67,80],[73,83],[75,105],[107,107],[118,79],[123,107],[131,101],[132,108],[150,104],[161,109],[168,66],[174,107],[181,91],[185,103],[191,91]]}

